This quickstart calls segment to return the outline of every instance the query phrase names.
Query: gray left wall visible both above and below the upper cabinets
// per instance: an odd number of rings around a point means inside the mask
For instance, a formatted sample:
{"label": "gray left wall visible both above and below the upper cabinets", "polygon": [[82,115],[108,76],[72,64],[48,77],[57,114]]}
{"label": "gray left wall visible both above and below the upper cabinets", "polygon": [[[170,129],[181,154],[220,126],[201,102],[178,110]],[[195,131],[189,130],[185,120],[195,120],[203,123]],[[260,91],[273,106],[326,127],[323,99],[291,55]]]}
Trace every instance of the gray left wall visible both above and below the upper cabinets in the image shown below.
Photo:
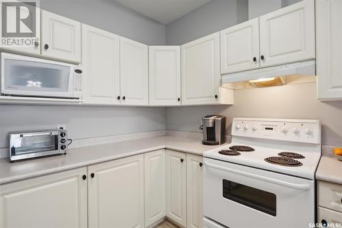
{"label": "gray left wall visible both above and below the upper cabinets", "polygon": [[[165,45],[165,25],[108,1],[41,0],[41,8],[147,45]],[[53,129],[66,124],[70,138],[129,134],[166,128],[163,107],[0,105],[0,147],[8,131]]]}

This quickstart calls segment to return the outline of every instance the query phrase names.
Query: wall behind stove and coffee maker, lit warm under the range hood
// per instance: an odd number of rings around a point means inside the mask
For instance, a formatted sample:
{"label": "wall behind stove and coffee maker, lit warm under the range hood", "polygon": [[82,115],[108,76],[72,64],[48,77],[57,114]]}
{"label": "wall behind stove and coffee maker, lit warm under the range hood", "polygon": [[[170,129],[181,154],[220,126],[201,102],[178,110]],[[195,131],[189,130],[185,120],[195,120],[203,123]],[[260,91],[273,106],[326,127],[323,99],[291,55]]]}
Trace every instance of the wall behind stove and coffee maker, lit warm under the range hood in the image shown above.
{"label": "wall behind stove and coffee maker, lit warm under the range hood", "polygon": [[234,117],[318,119],[322,125],[322,144],[342,146],[342,101],[317,101],[315,83],[235,90],[234,102],[234,105],[168,107],[166,127],[198,131],[200,119],[209,114],[228,118],[227,134],[231,134]]}

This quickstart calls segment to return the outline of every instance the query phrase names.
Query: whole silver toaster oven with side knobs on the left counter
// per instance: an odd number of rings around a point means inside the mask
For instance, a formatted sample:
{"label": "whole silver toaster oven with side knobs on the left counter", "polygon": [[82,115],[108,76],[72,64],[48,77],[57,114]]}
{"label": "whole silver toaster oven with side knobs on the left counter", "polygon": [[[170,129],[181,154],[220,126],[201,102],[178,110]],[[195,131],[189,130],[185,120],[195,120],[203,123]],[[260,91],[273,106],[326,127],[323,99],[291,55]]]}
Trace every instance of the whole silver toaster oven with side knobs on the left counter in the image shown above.
{"label": "whole silver toaster oven with side knobs on the left counter", "polygon": [[10,160],[66,154],[66,130],[10,132]]}

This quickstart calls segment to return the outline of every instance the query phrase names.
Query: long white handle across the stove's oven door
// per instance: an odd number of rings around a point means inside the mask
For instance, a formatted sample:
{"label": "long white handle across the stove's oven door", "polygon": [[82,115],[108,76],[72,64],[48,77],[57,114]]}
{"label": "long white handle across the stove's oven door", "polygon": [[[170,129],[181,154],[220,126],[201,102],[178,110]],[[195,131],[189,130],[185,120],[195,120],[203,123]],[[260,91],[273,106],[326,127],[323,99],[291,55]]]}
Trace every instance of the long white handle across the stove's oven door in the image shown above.
{"label": "long white handle across the stove's oven door", "polygon": [[253,173],[247,173],[247,172],[244,172],[244,171],[241,171],[241,170],[235,170],[233,168],[226,168],[226,167],[223,167],[223,166],[218,166],[218,165],[215,165],[215,164],[210,164],[209,162],[205,162],[205,164],[208,167],[211,167],[211,168],[215,168],[215,169],[218,169],[218,170],[223,170],[223,171],[226,171],[226,172],[229,172],[229,173],[235,173],[237,175],[242,175],[242,176],[245,176],[245,177],[251,177],[251,178],[254,178],[254,179],[259,179],[261,181],[267,181],[269,183],[276,183],[276,184],[278,184],[280,186],[285,186],[285,187],[288,187],[288,188],[294,188],[294,189],[300,189],[300,190],[308,190],[308,189],[311,188],[308,184],[290,183],[290,182],[287,182],[287,181],[280,181],[278,179],[273,179],[273,178],[269,178],[269,177],[263,177],[263,176],[256,175],[256,174],[253,174]]}

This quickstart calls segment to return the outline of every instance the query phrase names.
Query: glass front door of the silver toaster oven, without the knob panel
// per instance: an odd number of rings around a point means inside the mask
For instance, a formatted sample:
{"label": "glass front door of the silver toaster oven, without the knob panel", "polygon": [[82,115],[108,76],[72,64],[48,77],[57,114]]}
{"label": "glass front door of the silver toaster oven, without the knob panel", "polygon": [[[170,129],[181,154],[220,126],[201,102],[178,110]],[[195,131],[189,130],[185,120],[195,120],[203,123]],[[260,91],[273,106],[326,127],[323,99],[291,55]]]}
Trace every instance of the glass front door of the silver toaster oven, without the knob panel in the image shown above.
{"label": "glass front door of the silver toaster oven, without the knob panel", "polygon": [[11,161],[55,153],[59,153],[57,131],[10,135]]}

